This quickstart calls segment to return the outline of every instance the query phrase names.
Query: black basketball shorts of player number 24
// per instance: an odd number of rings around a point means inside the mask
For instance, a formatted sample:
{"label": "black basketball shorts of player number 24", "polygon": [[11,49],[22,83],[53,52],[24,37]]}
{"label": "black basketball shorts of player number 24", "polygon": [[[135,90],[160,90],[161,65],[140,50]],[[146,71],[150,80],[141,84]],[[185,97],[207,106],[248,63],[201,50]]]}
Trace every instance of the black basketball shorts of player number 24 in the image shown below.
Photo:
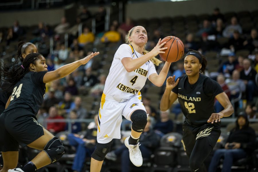
{"label": "black basketball shorts of player number 24", "polygon": [[0,136],[4,143],[0,151],[18,151],[44,135],[35,115],[25,108],[15,108],[0,115]]}

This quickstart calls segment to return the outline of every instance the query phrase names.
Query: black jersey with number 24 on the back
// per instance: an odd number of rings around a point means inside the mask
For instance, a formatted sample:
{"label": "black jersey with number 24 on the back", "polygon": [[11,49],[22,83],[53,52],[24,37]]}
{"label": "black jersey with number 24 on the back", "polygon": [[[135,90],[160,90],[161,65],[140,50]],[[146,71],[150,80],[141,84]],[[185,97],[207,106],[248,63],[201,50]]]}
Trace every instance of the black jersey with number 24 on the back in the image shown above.
{"label": "black jersey with number 24 on the back", "polygon": [[46,84],[43,83],[43,77],[46,73],[46,71],[30,71],[26,73],[24,77],[14,85],[10,104],[4,112],[16,107],[23,107],[30,110],[36,116],[45,95]]}

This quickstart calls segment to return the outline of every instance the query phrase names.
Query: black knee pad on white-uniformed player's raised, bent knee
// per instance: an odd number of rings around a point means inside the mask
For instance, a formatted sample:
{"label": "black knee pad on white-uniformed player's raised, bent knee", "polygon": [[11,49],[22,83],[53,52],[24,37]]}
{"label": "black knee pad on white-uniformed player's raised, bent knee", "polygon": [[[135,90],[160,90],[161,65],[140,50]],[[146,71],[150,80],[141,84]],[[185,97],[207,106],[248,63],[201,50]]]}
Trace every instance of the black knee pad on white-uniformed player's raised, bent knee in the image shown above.
{"label": "black knee pad on white-uniformed player's raised, bent knee", "polygon": [[131,115],[132,129],[142,132],[147,124],[147,114],[144,110],[136,110]]}

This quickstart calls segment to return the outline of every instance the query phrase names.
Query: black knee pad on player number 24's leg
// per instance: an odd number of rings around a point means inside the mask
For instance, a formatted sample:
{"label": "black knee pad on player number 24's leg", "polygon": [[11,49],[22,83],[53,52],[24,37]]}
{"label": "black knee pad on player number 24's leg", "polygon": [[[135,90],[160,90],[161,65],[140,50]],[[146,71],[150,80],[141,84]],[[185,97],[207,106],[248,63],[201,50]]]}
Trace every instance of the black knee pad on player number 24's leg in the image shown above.
{"label": "black knee pad on player number 24's leg", "polygon": [[57,137],[54,137],[46,144],[44,151],[47,153],[52,164],[64,155],[64,146]]}

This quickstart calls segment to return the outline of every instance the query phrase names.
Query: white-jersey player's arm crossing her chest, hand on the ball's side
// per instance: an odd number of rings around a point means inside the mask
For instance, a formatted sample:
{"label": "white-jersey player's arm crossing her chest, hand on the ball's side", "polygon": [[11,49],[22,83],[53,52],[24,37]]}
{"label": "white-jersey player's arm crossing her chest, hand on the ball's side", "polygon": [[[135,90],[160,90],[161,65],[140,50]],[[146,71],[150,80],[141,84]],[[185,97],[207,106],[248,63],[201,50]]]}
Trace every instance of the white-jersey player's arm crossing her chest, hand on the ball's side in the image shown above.
{"label": "white-jersey player's arm crossing her chest, hand on the ball's side", "polygon": [[139,67],[141,67],[144,63],[146,63],[151,58],[157,56],[159,53],[165,53],[162,50],[167,49],[167,47],[165,48],[161,48],[161,47],[164,44],[166,44],[166,42],[163,42],[162,44],[160,44],[160,41],[161,39],[159,39],[159,42],[157,43],[157,45],[150,52],[148,52],[147,54],[144,54],[139,58],[136,58],[136,59],[132,59],[130,57],[123,58],[121,62],[124,65],[124,68],[126,69],[126,71],[132,72],[138,69]]}

